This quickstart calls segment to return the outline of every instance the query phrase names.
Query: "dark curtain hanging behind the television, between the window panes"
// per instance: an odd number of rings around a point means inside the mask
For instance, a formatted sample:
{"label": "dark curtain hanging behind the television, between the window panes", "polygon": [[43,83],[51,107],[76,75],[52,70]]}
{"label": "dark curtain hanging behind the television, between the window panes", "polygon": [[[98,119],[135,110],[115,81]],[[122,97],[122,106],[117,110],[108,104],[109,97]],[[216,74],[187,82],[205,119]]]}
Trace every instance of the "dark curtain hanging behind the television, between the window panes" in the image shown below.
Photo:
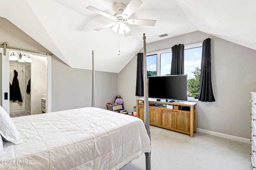
{"label": "dark curtain hanging behind the television, between the window panes", "polygon": [[184,74],[184,45],[172,47],[171,75]]}

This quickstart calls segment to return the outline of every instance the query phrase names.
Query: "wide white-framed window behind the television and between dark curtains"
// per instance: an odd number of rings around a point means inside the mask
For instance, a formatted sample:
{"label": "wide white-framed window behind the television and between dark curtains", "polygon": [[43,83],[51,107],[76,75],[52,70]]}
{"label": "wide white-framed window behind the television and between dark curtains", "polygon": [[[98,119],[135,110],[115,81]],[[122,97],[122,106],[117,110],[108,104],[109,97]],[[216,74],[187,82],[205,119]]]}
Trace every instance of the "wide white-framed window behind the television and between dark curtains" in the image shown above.
{"label": "wide white-framed window behind the television and between dark curtains", "polygon": [[[199,96],[202,43],[184,45],[184,74],[188,75],[188,97]],[[171,63],[172,48],[148,53],[148,76],[170,75]]]}

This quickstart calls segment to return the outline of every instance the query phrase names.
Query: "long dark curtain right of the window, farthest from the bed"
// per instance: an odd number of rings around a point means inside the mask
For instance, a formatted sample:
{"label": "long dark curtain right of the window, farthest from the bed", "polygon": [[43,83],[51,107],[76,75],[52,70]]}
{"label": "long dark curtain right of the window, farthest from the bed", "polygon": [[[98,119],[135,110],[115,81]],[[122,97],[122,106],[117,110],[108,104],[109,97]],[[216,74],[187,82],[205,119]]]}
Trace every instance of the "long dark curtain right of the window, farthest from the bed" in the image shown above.
{"label": "long dark curtain right of the window, farthest from the bed", "polygon": [[211,39],[207,38],[202,46],[201,78],[199,99],[202,102],[215,102],[212,93],[211,77]]}

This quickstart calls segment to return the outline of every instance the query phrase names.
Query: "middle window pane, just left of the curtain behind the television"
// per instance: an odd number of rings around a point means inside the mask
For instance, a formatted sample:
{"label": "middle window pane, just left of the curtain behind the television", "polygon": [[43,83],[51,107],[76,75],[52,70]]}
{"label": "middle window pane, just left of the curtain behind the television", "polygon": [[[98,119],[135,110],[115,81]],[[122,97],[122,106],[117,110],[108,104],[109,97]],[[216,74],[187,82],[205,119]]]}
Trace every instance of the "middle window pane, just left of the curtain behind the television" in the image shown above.
{"label": "middle window pane, just left of the curtain behind the television", "polygon": [[160,76],[170,75],[172,63],[172,53],[160,54]]}

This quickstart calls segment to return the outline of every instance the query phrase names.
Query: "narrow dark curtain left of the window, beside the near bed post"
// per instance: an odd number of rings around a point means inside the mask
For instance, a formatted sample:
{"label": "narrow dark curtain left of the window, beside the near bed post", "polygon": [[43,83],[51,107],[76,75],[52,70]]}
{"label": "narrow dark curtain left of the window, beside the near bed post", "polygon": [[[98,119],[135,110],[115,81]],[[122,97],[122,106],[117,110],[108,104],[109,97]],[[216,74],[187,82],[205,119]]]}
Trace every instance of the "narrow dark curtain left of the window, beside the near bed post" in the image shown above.
{"label": "narrow dark curtain left of the window, beside the near bed post", "polygon": [[137,81],[136,81],[135,96],[144,96],[143,53],[137,54]]}

